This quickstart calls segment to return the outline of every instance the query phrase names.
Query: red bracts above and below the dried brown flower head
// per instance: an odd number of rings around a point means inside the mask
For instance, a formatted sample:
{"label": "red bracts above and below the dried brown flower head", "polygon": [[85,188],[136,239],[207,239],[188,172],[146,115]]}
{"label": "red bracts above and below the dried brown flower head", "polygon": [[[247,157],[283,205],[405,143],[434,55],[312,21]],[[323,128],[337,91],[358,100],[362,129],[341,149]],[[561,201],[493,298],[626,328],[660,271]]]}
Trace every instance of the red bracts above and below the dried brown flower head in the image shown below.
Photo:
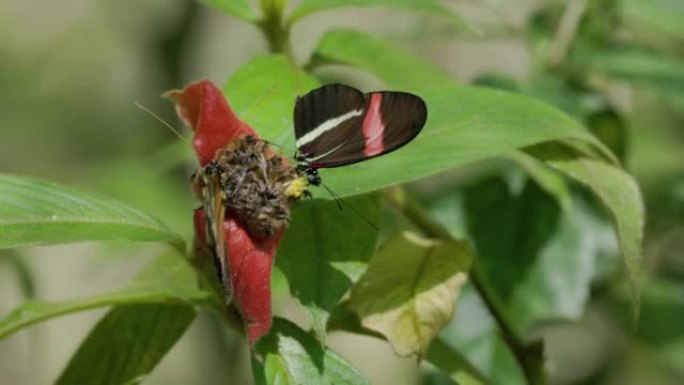
{"label": "red bracts above and below the dried brown flower head", "polygon": [[[183,121],[195,131],[192,141],[200,164],[207,165],[219,150],[245,135],[258,137],[233,113],[221,90],[209,80],[191,83],[183,90],[165,94],[176,103]],[[195,236],[207,245],[205,211],[195,210]],[[229,213],[223,224],[231,271],[233,300],[242,316],[247,337],[256,342],[271,328],[271,267],[283,231],[268,238],[250,235]]]}

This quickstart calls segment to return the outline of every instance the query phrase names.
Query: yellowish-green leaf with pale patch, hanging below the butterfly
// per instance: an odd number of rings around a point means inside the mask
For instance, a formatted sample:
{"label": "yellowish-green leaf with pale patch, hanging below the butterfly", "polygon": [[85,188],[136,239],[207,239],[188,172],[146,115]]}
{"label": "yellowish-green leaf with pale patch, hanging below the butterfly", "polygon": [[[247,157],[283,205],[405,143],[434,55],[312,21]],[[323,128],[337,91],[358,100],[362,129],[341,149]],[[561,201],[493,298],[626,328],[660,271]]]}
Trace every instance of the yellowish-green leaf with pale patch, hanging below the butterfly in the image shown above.
{"label": "yellowish-green leaf with pale patch, hanging below the butterfly", "polygon": [[400,356],[424,356],[454,314],[472,262],[466,242],[391,238],[354,285],[350,309]]}

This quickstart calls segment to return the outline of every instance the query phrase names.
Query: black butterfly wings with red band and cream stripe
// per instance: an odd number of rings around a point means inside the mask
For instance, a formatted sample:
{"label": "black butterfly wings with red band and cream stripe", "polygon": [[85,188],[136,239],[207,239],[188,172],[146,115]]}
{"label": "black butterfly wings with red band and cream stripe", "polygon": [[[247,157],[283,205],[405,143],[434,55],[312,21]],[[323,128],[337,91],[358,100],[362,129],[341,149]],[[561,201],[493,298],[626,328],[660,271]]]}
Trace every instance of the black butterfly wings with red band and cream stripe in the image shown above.
{"label": "black butterfly wings with red band and cream stripe", "polygon": [[416,95],[327,85],[297,100],[297,147],[314,168],[343,166],[396,150],[426,119],[427,107]]}

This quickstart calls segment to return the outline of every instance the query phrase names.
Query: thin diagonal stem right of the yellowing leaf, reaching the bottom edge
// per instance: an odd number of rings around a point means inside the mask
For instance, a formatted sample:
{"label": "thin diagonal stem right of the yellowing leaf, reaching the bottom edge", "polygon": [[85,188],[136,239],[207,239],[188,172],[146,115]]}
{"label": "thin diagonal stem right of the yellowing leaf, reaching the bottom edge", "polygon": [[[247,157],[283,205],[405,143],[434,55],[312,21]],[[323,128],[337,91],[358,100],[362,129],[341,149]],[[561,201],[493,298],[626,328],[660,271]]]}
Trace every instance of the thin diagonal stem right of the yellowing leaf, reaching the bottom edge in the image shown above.
{"label": "thin diagonal stem right of the yellowing leaf, reaching the bottom edge", "polygon": [[[418,202],[410,199],[399,187],[388,189],[386,199],[397,208],[407,219],[426,235],[434,238],[452,239],[449,232],[439,223],[425,214],[425,210]],[[480,294],[482,301],[494,318],[501,336],[518,362],[527,383],[530,385],[544,385],[546,373],[544,372],[544,356],[541,341],[526,342],[514,329],[512,321],[506,315],[504,305],[492,290],[482,266],[478,259],[473,261],[470,272],[475,289]]]}

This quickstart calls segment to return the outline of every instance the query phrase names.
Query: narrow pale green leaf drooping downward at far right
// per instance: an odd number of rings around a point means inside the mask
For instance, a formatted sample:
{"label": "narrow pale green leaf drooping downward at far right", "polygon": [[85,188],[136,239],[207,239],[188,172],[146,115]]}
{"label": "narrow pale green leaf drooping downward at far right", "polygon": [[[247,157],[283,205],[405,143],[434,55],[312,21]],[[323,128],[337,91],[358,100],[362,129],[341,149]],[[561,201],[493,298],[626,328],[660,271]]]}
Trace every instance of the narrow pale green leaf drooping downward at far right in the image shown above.
{"label": "narrow pale green leaf drooping downward at far right", "polygon": [[635,316],[638,316],[638,273],[644,231],[644,206],[639,186],[622,169],[585,157],[565,146],[546,144],[534,146],[528,152],[586,185],[608,208],[629,272]]}

